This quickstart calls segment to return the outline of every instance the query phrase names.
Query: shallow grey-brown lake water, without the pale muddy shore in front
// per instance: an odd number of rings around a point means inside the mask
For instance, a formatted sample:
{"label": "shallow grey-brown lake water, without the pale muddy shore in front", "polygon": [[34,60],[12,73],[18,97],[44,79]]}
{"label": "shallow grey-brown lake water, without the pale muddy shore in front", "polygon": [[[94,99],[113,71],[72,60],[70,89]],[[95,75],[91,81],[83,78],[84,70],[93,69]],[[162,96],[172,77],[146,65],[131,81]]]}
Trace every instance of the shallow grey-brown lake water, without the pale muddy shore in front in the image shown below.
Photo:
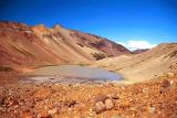
{"label": "shallow grey-brown lake water, without the pale muddy shore in front", "polygon": [[102,79],[102,81],[119,81],[122,75],[105,69],[79,66],[79,65],[61,65],[38,68],[32,75],[59,75],[64,77]]}

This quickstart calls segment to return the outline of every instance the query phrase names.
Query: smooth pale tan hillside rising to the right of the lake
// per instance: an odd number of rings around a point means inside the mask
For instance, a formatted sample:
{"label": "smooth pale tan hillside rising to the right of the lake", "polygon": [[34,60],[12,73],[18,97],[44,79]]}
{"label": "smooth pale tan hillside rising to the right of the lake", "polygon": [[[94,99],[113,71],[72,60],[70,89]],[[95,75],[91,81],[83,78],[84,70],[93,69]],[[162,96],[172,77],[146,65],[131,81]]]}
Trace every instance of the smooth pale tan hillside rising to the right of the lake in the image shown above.
{"label": "smooth pale tan hillside rising to the right of the lake", "polygon": [[105,58],[92,66],[121,73],[128,83],[177,73],[177,43],[163,43],[144,53]]}

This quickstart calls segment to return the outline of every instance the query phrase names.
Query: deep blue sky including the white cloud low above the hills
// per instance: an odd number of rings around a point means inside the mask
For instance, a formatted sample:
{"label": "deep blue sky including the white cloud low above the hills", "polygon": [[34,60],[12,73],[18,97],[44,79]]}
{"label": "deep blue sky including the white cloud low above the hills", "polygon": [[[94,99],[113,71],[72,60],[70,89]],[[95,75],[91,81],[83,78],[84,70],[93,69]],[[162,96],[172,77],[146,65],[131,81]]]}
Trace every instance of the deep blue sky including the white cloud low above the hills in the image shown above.
{"label": "deep blue sky including the white cloud low above the hills", "polygon": [[0,20],[59,23],[135,49],[177,42],[177,0],[1,0]]}

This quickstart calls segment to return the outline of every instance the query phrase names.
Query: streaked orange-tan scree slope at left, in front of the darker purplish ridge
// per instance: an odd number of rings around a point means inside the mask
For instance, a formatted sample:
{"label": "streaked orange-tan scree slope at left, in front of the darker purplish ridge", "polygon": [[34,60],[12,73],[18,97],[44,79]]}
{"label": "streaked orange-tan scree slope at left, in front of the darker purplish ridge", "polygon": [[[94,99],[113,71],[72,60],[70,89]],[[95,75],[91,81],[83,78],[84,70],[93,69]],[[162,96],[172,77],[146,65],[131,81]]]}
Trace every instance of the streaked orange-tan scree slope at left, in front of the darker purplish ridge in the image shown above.
{"label": "streaked orange-tan scree slope at left, in front of the darker purplish ridge", "polygon": [[80,46],[62,41],[54,33],[44,26],[31,29],[22,24],[1,24],[1,64],[61,64],[93,60]]}

